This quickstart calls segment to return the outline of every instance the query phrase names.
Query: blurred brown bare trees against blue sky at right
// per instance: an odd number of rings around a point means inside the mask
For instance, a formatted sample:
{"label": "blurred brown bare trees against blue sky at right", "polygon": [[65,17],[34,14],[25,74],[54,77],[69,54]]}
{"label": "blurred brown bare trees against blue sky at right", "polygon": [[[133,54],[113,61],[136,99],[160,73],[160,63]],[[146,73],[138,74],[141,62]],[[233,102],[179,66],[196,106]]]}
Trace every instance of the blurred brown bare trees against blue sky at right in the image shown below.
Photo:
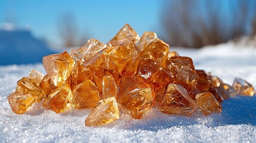
{"label": "blurred brown bare trees against blue sky at right", "polygon": [[165,1],[161,20],[172,46],[201,48],[256,35],[254,0]]}

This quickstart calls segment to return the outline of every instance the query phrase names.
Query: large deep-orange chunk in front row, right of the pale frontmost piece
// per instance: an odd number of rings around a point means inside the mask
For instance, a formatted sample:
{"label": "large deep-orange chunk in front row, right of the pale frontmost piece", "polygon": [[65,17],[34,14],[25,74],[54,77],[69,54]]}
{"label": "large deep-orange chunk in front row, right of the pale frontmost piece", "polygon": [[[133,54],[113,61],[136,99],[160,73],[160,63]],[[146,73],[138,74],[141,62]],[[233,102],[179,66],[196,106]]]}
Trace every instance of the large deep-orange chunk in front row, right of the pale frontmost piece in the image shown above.
{"label": "large deep-orange chunk in front row, right of the pale frontmost piece", "polygon": [[118,104],[134,119],[141,119],[152,108],[153,97],[155,95],[152,89],[139,77],[122,77],[119,84]]}

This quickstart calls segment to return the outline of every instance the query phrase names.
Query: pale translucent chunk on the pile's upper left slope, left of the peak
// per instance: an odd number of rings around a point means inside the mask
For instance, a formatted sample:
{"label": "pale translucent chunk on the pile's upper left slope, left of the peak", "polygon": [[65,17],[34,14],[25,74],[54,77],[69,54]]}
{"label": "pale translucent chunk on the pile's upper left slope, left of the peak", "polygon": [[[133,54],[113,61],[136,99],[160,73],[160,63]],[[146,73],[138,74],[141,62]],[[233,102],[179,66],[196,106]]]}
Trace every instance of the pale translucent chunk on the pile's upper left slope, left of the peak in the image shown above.
{"label": "pale translucent chunk on the pile's upper left slope, left of the peak", "polygon": [[104,43],[96,39],[90,39],[81,48],[72,49],[70,55],[75,61],[82,61],[82,63],[87,65],[94,63],[106,47]]}

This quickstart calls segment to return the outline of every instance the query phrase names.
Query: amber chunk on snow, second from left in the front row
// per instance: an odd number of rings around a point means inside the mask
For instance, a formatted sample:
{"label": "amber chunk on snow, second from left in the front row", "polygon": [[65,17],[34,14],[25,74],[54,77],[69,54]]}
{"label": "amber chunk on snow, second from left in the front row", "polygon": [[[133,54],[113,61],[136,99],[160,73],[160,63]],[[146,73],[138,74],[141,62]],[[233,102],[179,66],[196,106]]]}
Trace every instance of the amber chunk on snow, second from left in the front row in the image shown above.
{"label": "amber chunk on snow, second from left in the front row", "polygon": [[65,83],[54,89],[54,91],[45,99],[43,105],[50,110],[55,111],[55,113],[61,113],[66,111],[67,102],[69,101],[71,94],[72,92],[69,85]]}

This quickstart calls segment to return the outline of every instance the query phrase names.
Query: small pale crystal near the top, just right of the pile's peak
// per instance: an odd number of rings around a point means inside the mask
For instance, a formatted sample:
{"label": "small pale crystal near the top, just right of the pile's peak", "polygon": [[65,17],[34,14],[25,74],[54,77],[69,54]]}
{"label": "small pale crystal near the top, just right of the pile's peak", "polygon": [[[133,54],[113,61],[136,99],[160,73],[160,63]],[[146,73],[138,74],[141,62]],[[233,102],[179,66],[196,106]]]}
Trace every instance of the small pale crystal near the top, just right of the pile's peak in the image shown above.
{"label": "small pale crystal near the top, just right of the pile's peak", "polygon": [[143,51],[151,42],[158,38],[155,32],[144,32],[140,38],[140,41],[136,44],[136,49],[138,52]]}

